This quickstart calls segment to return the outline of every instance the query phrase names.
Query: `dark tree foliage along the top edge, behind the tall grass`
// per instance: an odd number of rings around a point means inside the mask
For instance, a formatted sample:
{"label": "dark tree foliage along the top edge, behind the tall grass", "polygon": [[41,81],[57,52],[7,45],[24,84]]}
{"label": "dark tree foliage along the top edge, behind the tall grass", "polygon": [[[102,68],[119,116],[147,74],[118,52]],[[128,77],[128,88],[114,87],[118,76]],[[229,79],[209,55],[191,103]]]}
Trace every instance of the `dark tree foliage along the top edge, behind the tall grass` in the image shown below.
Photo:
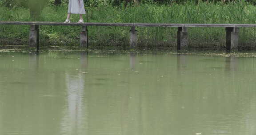
{"label": "dark tree foliage along the top edge, behind the tall grass", "polygon": [[[86,7],[97,7],[97,6],[121,6],[123,4],[184,4],[186,2],[200,3],[200,2],[240,2],[241,0],[84,0]],[[246,2],[251,4],[256,4],[256,0],[246,0]],[[45,4],[50,6],[60,6],[61,4],[68,4],[68,0],[0,0],[0,6],[7,8],[29,8],[31,5],[36,5],[37,8],[42,8]],[[40,5],[38,7],[38,5]]]}

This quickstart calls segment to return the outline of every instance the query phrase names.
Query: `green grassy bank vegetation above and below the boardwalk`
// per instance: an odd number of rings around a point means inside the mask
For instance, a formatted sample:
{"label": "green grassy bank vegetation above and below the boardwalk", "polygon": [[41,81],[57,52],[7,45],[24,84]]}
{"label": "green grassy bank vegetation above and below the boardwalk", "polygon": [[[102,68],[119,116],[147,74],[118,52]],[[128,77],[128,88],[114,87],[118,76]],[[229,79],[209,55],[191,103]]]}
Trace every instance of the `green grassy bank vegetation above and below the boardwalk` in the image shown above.
{"label": "green grassy bank vegetation above and below the boardwalk", "polygon": [[[10,0],[12,1],[12,0]],[[20,0],[22,1],[22,0]],[[25,0],[26,1],[26,0]],[[67,14],[67,0],[55,4],[50,0],[40,12],[38,21],[63,22]],[[98,2],[98,3],[97,3]],[[245,1],[135,1],[108,3],[88,0],[85,2],[87,22],[104,23],[192,23],[192,24],[255,24],[256,7]],[[1,5],[1,21],[32,21],[31,11],[23,4],[16,6]],[[24,4],[26,5],[26,4]],[[71,21],[77,22],[79,16],[72,15]],[[28,44],[29,26],[0,25],[0,44]],[[136,28],[141,47],[176,46],[177,28]],[[91,47],[128,47],[129,30],[127,27],[88,27]],[[192,47],[225,46],[224,28],[188,28],[189,44]],[[40,26],[40,45],[79,46],[80,27]],[[240,44],[243,47],[256,47],[256,29],[241,28]]]}

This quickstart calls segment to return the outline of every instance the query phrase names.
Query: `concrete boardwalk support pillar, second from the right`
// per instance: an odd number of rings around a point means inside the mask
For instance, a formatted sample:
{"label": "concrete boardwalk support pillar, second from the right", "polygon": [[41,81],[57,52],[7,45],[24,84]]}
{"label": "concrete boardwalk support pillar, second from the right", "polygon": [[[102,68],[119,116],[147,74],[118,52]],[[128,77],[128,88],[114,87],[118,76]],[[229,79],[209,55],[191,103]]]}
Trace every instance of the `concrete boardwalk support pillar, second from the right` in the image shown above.
{"label": "concrete boardwalk support pillar, second from the right", "polygon": [[186,27],[178,27],[177,50],[185,48],[188,48],[188,29]]}

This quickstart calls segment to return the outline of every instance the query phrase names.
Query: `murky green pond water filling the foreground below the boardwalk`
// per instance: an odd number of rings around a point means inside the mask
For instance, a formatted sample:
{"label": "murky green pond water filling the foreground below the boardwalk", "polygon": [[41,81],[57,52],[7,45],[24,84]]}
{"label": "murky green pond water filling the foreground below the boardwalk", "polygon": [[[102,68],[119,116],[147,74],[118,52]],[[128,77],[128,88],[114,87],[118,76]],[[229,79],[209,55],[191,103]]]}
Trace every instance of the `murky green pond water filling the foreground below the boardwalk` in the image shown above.
{"label": "murky green pond water filling the foreground below the boardwalk", "polygon": [[256,58],[0,53],[0,135],[256,135]]}

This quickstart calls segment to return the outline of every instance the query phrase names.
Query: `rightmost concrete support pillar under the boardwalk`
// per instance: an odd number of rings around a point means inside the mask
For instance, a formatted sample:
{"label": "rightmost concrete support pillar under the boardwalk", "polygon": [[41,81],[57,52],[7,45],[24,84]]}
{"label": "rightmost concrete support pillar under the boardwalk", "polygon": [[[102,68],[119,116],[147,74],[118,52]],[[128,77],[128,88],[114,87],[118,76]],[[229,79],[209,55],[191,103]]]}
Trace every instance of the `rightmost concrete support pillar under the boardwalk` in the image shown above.
{"label": "rightmost concrete support pillar under the boardwalk", "polygon": [[238,47],[238,32],[239,28],[226,28],[226,51],[230,52],[232,49]]}

